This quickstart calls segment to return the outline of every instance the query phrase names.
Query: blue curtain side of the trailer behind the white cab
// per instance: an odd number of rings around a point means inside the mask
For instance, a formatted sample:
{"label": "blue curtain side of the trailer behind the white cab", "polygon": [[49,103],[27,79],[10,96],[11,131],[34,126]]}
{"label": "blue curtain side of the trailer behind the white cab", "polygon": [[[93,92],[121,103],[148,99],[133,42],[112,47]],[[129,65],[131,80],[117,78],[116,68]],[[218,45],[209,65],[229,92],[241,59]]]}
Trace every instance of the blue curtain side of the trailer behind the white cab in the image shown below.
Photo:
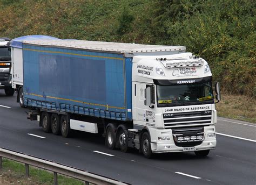
{"label": "blue curtain side of the trailer behind the white cab", "polygon": [[123,54],[23,44],[24,105],[131,120],[132,61]]}

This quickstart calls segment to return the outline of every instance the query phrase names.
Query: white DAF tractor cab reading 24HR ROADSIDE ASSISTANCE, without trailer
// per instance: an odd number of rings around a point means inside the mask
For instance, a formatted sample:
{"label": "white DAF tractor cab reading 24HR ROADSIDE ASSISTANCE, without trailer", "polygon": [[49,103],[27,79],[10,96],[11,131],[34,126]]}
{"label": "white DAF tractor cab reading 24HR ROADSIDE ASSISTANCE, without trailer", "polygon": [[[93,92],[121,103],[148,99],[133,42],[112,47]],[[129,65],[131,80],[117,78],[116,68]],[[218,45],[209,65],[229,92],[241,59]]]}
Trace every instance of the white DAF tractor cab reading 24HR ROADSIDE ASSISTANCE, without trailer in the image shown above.
{"label": "white DAF tractor cab reading 24HR ROADSIDE ASSISTANCE, without trailer", "polygon": [[[206,156],[216,146],[217,112],[208,63],[180,53],[134,56],[132,68],[133,129],[142,137],[142,152],[194,151]],[[215,90],[220,100],[219,84]]]}

